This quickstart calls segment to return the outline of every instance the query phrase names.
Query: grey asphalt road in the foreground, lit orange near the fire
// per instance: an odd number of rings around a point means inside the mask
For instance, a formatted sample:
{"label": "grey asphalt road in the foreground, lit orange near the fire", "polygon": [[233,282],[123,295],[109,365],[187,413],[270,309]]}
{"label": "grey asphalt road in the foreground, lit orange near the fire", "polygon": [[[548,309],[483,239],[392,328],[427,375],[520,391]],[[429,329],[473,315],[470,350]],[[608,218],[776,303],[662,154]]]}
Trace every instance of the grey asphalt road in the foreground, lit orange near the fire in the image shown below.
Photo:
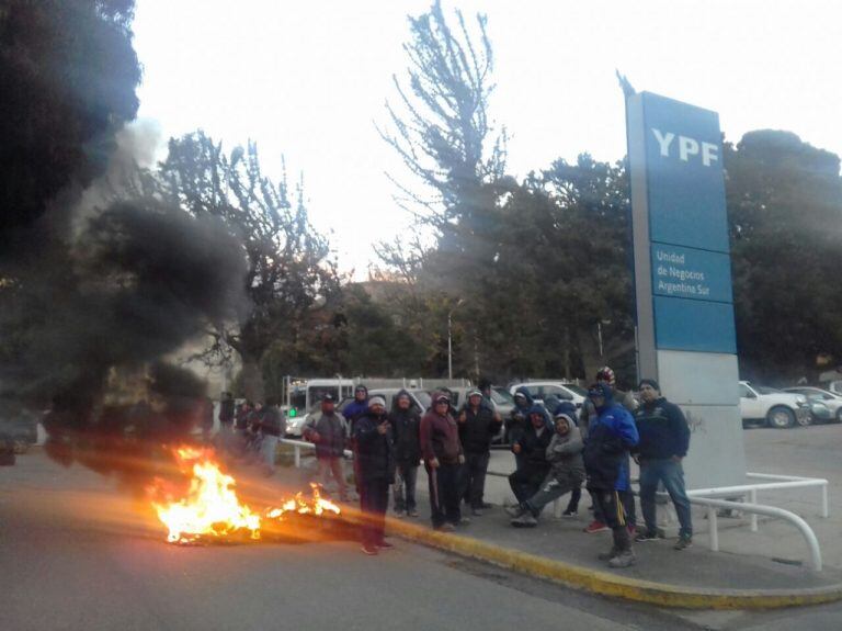
{"label": "grey asphalt road in the foreground, lit orange near the fire", "polygon": [[[747,452],[750,461],[755,444],[778,461],[792,454],[794,473],[819,459],[813,474],[828,475],[840,471],[828,448],[839,437],[839,426],[753,430]],[[830,458],[835,464],[824,464]],[[170,545],[148,507],[113,480],[65,469],[36,449],[0,469],[0,628],[809,630],[842,623],[839,605],[769,613],[659,610],[396,544],[375,557],[341,540]]]}

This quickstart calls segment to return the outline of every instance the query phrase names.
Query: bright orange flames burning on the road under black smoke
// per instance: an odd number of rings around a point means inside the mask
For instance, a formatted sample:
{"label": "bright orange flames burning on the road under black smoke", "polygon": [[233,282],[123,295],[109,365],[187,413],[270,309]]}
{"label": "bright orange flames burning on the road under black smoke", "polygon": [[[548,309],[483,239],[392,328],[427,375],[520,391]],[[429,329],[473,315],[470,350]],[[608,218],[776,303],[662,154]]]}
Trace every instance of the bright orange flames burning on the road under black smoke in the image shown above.
{"label": "bright orange flames burning on the road under black smoke", "polygon": [[[220,471],[212,451],[183,447],[174,454],[182,470],[192,473],[192,477],[182,499],[152,502],[158,518],[169,531],[167,541],[193,543],[242,533],[248,533],[252,540],[260,539],[261,516],[239,500],[235,478]],[[318,484],[310,483],[310,498],[297,493],[280,508],[268,508],[265,518],[283,520],[287,512],[317,517],[326,512],[340,515],[339,506],[321,496]]]}

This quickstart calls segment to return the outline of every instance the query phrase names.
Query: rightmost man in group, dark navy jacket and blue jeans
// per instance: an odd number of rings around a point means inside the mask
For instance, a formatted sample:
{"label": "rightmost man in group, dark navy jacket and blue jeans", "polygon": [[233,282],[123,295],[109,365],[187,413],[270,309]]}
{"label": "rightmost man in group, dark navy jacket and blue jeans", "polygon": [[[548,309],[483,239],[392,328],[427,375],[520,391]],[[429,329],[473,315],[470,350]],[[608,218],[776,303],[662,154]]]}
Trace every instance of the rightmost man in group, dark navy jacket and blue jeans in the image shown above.
{"label": "rightmost man in group, dark navy jacket and blue jeans", "polygon": [[681,466],[681,460],[690,448],[687,420],[678,405],[661,396],[657,381],[644,379],[638,390],[642,405],[635,410],[635,424],[640,442],[633,453],[640,465],[640,508],[646,532],[638,534],[635,541],[658,539],[655,493],[658,483],[662,482],[675,505],[681,525],[675,550],[684,550],[693,544],[690,499],[684,489],[684,470]]}

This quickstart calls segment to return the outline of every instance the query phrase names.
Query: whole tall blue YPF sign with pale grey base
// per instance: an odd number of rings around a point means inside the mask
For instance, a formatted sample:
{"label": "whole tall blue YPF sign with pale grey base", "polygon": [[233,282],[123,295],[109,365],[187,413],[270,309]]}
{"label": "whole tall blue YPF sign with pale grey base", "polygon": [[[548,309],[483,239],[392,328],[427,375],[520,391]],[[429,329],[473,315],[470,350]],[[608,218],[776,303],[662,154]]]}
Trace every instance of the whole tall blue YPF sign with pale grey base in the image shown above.
{"label": "whole tall blue YPF sign with pale grey base", "polygon": [[741,484],[731,259],[716,112],[649,92],[626,101],[640,378],[691,426],[689,488]]}

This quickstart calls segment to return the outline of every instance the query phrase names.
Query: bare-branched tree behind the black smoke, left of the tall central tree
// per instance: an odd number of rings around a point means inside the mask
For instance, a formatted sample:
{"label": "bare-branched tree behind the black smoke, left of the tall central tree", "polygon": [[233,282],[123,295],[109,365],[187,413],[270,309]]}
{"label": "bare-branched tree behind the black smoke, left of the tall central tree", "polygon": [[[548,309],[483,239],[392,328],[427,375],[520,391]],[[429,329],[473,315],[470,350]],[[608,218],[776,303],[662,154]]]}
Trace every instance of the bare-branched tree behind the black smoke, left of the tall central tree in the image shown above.
{"label": "bare-branched tree behind the black smoke, left of the tall central tree", "polygon": [[[277,183],[265,177],[254,143],[226,154],[201,131],[170,139],[167,159],[156,172],[140,173],[138,182],[196,217],[220,218],[242,243],[248,304],[234,326],[214,323],[208,330],[214,341],[202,358],[219,361],[236,351],[246,394],[255,399],[264,394],[261,364],[268,349],[286,362],[286,374],[312,365],[307,356],[318,352],[312,345],[340,279],[327,239],[309,223],[301,188],[293,200],[285,176]],[[283,370],[277,361],[273,367]]]}

